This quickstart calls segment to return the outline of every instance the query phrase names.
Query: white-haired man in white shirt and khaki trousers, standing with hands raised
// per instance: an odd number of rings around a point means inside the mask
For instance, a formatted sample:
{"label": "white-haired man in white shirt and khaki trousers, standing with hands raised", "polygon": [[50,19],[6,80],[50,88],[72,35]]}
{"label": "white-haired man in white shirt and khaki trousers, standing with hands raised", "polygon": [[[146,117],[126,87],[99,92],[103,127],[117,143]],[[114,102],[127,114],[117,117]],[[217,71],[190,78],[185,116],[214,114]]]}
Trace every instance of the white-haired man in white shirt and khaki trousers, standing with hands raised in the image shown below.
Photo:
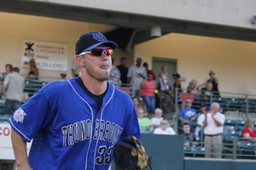
{"label": "white-haired man in white shirt and khaki trousers, standing with hands raised", "polygon": [[[205,132],[205,156],[207,158],[221,158],[222,133],[224,129],[225,116],[219,111],[219,104],[213,102],[210,113],[206,113],[204,120]],[[212,155],[214,153],[214,155]]]}

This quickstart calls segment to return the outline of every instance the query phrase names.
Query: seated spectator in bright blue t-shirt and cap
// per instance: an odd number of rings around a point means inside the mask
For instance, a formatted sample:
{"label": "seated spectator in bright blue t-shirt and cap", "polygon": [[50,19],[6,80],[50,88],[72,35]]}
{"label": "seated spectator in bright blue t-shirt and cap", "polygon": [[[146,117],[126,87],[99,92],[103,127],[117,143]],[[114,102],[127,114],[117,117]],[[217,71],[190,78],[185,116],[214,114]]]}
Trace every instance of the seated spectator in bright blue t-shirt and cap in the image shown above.
{"label": "seated spectator in bright blue t-shirt and cap", "polygon": [[183,126],[184,122],[188,122],[190,126],[192,126],[196,119],[196,111],[195,109],[191,108],[192,101],[191,99],[186,100],[186,105],[179,111],[178,119],[180,121],[180,127]]}

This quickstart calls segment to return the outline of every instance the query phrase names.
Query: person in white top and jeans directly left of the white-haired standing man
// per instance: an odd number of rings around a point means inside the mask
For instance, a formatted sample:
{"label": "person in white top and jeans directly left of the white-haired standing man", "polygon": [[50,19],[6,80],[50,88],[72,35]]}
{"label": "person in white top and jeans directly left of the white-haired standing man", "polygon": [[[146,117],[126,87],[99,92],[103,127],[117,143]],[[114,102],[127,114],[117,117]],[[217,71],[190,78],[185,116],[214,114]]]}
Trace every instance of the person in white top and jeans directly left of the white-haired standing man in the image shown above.
{"label": "person in white top and jeans directly left of the white-haired standing man", "polygon": [[200,112],[197,114],[197,119],[196,119],[196,127],[195,127],[195,139],[196,140],[200,140],[201,134],[202,139],[204,139],[204,132],[203,132],[203,128],[204,128],[204,120],[206,118],[206,113],[208,113],[210,111],[209,107],[206,107],[206,105],[201,104],[200,107]]}

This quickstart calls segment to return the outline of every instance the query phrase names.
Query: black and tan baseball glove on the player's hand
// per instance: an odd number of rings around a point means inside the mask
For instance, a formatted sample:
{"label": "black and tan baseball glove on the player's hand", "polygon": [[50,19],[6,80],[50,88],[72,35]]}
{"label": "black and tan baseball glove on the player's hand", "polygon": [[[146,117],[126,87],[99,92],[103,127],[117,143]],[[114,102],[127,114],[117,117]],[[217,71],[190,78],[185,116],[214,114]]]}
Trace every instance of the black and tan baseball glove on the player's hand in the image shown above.
{"label": "black and tan baseball glove on the player's hand", "polygon": [[113,160],[116,170],[139,170],[148,166],[152,170],[152,158],[148,158],[141,141],[132,135],[114,144]]}

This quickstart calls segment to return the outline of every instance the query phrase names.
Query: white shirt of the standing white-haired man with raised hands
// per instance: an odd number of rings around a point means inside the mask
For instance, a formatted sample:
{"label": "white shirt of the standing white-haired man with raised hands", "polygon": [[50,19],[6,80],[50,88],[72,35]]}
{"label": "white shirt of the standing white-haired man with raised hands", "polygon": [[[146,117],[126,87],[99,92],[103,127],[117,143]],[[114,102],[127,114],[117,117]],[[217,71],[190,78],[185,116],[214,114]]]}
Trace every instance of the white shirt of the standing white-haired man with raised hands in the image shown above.
{"label": "white shirt of the standing white-haired man with raised hands", "polygon": [[212,113],[207,113],[207,127],[205,127],[204,133],[210,135],[223,133],[225,116],[220,112],[217,112],[213,117],[218,120],[218,122],[220,122],[222,126],[218,127],[212,119]]}

